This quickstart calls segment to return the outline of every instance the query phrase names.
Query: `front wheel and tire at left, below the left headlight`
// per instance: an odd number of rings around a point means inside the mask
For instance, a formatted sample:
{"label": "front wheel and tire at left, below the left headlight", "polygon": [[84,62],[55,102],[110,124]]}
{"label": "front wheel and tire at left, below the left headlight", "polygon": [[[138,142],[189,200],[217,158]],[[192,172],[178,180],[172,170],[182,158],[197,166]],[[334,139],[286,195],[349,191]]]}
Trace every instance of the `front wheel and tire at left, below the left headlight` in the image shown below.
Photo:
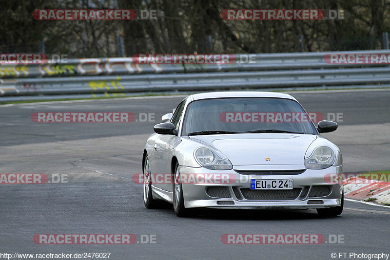
{"label": "front wheel and tire at left, below the left headlight", "polygon": [[177,162],[175,165],[175,172],[174,172],[173,201],[174,201],[174,211],[178,217],[190,217],[193,215],[194,210],[190,208],[185,208],[184,206],[183,186],[181,185],[179,164]]}

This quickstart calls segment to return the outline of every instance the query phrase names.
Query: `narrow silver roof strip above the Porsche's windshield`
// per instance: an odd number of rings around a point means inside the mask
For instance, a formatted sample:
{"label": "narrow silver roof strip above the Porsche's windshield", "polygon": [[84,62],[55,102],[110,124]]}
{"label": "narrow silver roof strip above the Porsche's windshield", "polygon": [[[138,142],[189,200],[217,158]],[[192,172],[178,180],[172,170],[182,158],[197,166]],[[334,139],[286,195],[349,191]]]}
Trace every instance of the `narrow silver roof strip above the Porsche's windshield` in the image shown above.
{"label": "narrow silver roof strip above the Porsche's windshield", "polygon": [[205,92],[197,93],[188,96],[188,98],[193,100],[207,99],[207,98],[223,98],[223,97],[276,97],[276,98],[287,98],[287,99],[296,99],[286,93],[277,93],[277,92],[261,92],[261,91],[224,91],[224,92]]}

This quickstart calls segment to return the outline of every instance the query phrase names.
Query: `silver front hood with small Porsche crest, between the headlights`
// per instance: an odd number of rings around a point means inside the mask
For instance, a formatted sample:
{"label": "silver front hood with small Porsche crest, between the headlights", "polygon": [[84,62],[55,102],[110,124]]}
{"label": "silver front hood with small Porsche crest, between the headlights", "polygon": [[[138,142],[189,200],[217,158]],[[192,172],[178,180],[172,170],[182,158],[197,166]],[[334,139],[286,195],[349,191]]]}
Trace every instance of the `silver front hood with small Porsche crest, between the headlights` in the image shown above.
{"label": "silver front hood with small Porsche crest, between the headlights", "polygon": [[221,151],[233,165],[303,165],[306,150],[316,138],[312,134],[288,133],[191,136]]}

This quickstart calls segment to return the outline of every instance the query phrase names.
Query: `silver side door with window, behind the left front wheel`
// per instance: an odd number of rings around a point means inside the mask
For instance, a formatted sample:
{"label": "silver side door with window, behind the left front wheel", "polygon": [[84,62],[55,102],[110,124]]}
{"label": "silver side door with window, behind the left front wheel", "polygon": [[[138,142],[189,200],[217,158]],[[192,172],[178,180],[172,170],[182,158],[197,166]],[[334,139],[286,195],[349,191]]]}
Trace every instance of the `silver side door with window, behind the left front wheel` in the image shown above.
{"label": "silver side door with window, behind the left front wheel", "polygon": [[[172,116],[171,123],[175,125],[177,129],[179,127],[181,117],[183,114],[185,106],[185,101],[182,101],[176,108],[175,113]],[[153,148],[154,158],[155,158],[155,168],[156,171],[152,172],[154,174],[155,184],[154,186],[158,186],[159,188],[167,191],[172,191],[172,184],[165,180],[170,180],[172,169],[171,162],[173,157],[173,147],[176,142],[178,142],[180,138],[175,135],[159,135],[156,139],[155,146]],[[169,176],[168,176],[169,175]],[[160,182],[160,180],[164,180]],[[152,180],[153,181],[153,180]]]}

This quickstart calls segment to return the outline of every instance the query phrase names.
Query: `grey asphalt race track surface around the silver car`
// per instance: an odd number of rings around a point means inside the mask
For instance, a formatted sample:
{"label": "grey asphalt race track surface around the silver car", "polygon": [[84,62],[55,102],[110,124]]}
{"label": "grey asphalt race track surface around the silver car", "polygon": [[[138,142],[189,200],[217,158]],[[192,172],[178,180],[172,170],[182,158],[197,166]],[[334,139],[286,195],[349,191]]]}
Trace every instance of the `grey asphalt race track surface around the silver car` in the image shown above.
{"label": "grey asphalt race track surface around the silver car", "polygon": [[[324,119],[339,115],[339,129],[324,136],[342,150],[345,172],[390,169],[389,90],[292,95],[307,111],[321,112]],[[153,126],[182,98],[0,106],[0,173],[43,173],[51,182],[0,186],[0,253],[109,252],[109,259],[286,260],[334,259],[331,253],[339,259],[341,252],[390,254],[390,207],[346,201],[343,214],[335,218],[320,218],[315,210],[205,210],[196,218],[178,218],[170,208],[146,209],[142,186],[132,176],[142,172],[141,153]],[[138,122],[35,123],[31,119],[34,112],[76,111],[133,112]],[[145,113],[155,120],[139,122]],[[36,244],[36,234],[134,234],[137,241]],[[321,234],[325,241],[224,244],[224,234]],[[145,238],[153,243],[143,243]]]}

